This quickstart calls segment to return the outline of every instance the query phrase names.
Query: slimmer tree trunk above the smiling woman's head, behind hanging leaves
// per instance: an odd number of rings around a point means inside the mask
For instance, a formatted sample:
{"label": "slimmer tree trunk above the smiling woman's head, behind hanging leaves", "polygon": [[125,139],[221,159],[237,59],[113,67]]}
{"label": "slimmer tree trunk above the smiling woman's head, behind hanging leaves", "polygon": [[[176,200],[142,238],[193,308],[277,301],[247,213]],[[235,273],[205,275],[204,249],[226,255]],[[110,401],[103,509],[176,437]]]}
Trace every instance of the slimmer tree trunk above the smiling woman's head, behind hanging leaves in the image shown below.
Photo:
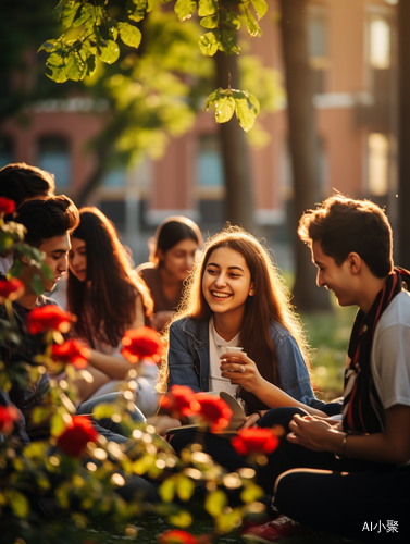
{"label": "slimmer tree trunk above the smiling woman's head, behind hanging leaves", "polygon": [[[228,87],[226,57],[220,51],[215,54],[216,86]],[[236,55],[228,58],[232,88],[238,89],[238,61]],[[233,225],[240,225],[254,234],[253,195],[249,164],[248,145],[236,115],[227,123],[219,125],[221,150],[225,175],[226,198],[225,219]]]}

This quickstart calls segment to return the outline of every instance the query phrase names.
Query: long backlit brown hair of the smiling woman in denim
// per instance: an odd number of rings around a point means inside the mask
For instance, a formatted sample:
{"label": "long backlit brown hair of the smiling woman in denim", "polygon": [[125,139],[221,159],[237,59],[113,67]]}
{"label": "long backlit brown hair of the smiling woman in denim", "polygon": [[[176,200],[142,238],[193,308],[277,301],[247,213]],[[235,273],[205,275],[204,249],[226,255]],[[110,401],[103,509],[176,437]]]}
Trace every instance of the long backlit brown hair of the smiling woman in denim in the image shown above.
{"label": "long backlit brown hair of the smiling woman in denim", "polygon": [[[294,336],[309,366],[309,348],[301,323],[290,305],[290,295],[273,263],[268,250],[251,234],[243,228],[227,225],[222,232],[208,239],[202,259],[191,271],[179,311],[173,322],[183,318],[209,320],[212,311],[202,293],[202,277],[211,254],[221,247],[238,251],[249,268],[254,295],[245,304],[240,343],[248,356],[256,362],[261,375],[271,383],[277,383],[277,357],[271,339],[270,324],[276,321]],[[167,372],[164,372],[166,376]],[[256,395],[239,390],[247,413],[266,409]]]}

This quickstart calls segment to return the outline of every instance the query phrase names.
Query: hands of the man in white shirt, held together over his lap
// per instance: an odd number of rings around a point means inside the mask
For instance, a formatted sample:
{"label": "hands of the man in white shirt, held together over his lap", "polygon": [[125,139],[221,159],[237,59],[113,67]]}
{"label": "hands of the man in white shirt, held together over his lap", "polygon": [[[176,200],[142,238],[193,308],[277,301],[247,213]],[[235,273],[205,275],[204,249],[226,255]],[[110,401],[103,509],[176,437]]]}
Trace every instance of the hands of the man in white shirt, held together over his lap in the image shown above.
{"label": "hands of the man in white shirt, held together over his lap", "polygon": [[335,448],[331,444],[338,442],[336,435],[340,435],[340,443],[345,433],[335,430],[335,425],[331,425],[321,418],[314,416],[299,416],[296,413],[289,423],[291,432],[286,438],[293,444],[299,444],[314,452],[332,452]]}

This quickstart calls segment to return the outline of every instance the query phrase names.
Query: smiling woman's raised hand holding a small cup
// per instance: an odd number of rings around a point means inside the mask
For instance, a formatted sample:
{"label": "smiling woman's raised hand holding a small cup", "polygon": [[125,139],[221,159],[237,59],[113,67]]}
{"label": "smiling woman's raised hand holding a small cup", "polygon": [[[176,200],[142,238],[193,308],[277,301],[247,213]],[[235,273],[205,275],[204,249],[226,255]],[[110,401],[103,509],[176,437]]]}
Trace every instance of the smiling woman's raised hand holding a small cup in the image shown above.
{"label": "smiling woman's raised hand holding a small cup", "polygon": [[222,355],[220,368],[222,378],[227,378],[232,384],[240,385],[250,393],[254,393],[264,382],[254,361],[244,351]]}

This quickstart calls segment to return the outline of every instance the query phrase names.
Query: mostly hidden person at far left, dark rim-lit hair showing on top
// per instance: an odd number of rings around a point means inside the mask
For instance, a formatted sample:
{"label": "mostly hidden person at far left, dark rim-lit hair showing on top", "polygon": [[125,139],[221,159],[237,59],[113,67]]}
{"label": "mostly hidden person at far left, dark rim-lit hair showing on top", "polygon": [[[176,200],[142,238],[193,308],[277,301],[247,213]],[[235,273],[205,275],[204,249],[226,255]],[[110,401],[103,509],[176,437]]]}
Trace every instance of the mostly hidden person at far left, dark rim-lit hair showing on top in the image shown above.
{"label": "mostly hidden person at far left, dark rim-lit hair showing on top", "polygon": [[[8,164],[0,170],[0,197],[13,200],[16,208],[33,198],[52,197],[54,189],[54,178],[49,172],[25,162]],[[13,254],[0,256],[0,273],[5,275],[13,260]]]}

